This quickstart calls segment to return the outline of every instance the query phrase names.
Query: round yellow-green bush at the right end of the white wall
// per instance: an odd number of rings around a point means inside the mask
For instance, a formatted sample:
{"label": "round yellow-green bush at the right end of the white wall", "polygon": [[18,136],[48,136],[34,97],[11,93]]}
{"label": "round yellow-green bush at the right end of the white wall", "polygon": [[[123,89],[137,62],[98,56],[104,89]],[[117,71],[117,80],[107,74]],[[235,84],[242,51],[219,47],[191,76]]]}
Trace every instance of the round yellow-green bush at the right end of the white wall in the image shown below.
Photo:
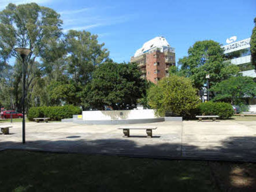
{"label": "round yellow-green bush at the right end of the white wall", "polygon": [[171,75],[149,89],[149,105],[157,110],[159,116],[172,112],[183,117],[190,117],[199,103],[196,89],[190,79]]}

